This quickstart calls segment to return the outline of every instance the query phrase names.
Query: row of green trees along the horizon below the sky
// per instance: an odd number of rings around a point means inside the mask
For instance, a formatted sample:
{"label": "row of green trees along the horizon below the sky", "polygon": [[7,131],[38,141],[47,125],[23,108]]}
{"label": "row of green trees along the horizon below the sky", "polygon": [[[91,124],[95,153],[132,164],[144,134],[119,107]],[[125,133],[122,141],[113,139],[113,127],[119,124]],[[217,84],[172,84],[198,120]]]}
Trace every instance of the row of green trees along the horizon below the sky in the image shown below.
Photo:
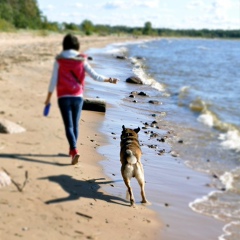
{"label": "row of green trees along the horizon below the sky", "polygon": [[149,35],[162,37],[202,37],[202,38],[240,38],[240,29],[168,29],[153,28],[151,22],[143,27],[110,26],[93,24],[90,20],[66,23],[50,22],[42,14],[36,0],[0,0],[0,31],[14,29],[35,29],[48,31],[75,31],[84,35],[129,34],[133,36]]}

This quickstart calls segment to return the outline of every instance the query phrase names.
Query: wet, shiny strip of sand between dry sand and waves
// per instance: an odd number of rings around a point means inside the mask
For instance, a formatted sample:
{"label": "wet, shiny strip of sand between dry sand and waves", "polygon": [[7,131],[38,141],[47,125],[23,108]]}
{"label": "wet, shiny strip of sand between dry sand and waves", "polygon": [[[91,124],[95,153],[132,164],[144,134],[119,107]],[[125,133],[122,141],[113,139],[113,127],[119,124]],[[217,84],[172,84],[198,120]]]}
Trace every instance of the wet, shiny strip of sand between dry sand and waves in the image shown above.
{"label": "wet, shiny strip of sand between dry sand and waves", "polygon": [[[198,201],[215,190],[214,178],[212,175],[192,169],[187,164],[187,153],[178,152],[180,146],[186,146],[187,139],[181,138],[179,134],[181,131],[178,131],[177,123],[171,125],[168,121],[164,121],[165,117],[161,117],[161,113],[166,112],[168,120],[171,121],[169,116],[174,114],[173,106],[166,101],[161,91],[156,90],[155,92],[147,84],[135,85],[124,82],[134,68],[134,64],[132,64],[134,56],[145,57],[144,53],[141,55],[141,49],[147,51],[149,48],[152,49],[149,45],[154,45],[154,43],[157,45],[157,43],[165,41],[166,39],[154,39],[151,42],[137,41],[127,45],[125,43],[113,44],[104,49],[90,51],[90,54],[94,53],[96,69],[103,70],[101,63],[104,62],[104,68],[111,69],[117,77],[123,80],[119,82],[118,88],[111,85],[102,87],[101,84],[98,84],[97,87],[90,86],[91,89],[97,90],[97,93],[93,91],[91,97],[106,98],[107,102],[111,103],[111,107],[108,107],[105,114],[106,119],[101,126],[101,132],[108,135],[109,145],[99,148],[101,155],[106,157],[104,161],[101,161],[103,169],[114,180],[114,187],[108,187],[107,192],[122,198],[125,196],[125,188],[116,164],[118,158],[114,153],[119,151],[118,143],[122,124],[131,127],[139,126],[142,129],[139,132],[139,139],[143,151],[142,162],[145,169],[146,193],[147,198],[152,202],[150,208],[158,213],[163,222],[161,237],[166,240],[217,239],[222,235],[225,224],[213,217],[195,212],[190,205],[193,201]],[[138,50],[135,55],[130,50],[132,48]],[[114,59],[117,54],[126,54],[127,59]],[[143,67],[151,64],[149,59],[151,57],[146,57]],[[136,96],[134,100],[129,97],[131,92],[140,91],[144,91],[149,97]],[[149,99],[157,99],[162,104],[147,107],[146,103]],[[151,108],[152,111],[148,108]],[[177,113],[175,117],[178,117]],[[157,120],[158,128],[151,126],[154,120]],[[146,134],[147,132],[152,134]],[[159,142],[158,139],[161,137],[166,141]],[[181,139],[182,141],[178,143]],[[164,153],[159,155],[161,149],[164,149]],[[140,202],[138,184],[135,183],[136,181],[133,179],[134,194],[136,200]]]}

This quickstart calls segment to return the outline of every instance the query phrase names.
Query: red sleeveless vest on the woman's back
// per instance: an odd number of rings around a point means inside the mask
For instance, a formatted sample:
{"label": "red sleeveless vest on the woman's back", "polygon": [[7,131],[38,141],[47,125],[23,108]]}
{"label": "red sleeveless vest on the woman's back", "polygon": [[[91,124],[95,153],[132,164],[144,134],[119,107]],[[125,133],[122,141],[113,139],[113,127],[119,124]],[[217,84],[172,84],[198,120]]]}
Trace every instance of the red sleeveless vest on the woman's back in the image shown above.
{"label": "red sleeveless vest on the woman's back", "polygon": [[[84,56],[80,56],[84,57]],[[84,91],[85,70],[83,58],[58,58],[57,96],[80,96]]]}

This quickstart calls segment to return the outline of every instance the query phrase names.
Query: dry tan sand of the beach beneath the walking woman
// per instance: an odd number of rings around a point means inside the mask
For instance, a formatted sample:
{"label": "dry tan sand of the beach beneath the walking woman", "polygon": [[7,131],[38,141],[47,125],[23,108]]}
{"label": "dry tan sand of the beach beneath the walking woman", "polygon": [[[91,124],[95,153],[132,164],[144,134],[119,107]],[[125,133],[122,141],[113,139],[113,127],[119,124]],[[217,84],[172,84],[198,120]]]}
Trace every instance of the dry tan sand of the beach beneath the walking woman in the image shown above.
{"label": "dry tan sand of the beach beneath the walking woman", "polygon": [[[42,111],[54,56],[63,35],[0,34],[0,118],[26,129],[0,134],[0,168],[14,184],[0,189],[0,239],[160,239],[161,222],[149,207],[130,208],[125,199],[104,192],[110,186],[97,147],[104,114],[83,111],[77,166],[70,165],[58,108]],[[81,50],[104,47],[124,37],[80,37]],[[56,105],[56,97],[52,99]],[[116,152],[119,155],[119,152]],[[120,162],[119,162],[120,168]]]}

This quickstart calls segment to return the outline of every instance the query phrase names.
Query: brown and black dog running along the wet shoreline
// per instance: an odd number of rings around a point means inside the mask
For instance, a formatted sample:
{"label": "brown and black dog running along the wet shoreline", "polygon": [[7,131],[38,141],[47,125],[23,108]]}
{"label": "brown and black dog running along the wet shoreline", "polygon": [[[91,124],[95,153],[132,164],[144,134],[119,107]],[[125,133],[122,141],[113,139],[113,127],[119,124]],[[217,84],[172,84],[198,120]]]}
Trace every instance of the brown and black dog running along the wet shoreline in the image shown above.
{"label": "brown and black dog running along the wet shoreline", "polygon": [[120,142],[120,161],[122,163],[121,173],[124,183],[127,186],[130,196],[131,206],[135,205],[132,188],[130,185],[131,178],[135,177],[141,188],[142,203],[148,203],[145,196],[144,171],[141,163],[142,151],[138,141],[138,132],[140,128],[131,129],[122,126]]}

